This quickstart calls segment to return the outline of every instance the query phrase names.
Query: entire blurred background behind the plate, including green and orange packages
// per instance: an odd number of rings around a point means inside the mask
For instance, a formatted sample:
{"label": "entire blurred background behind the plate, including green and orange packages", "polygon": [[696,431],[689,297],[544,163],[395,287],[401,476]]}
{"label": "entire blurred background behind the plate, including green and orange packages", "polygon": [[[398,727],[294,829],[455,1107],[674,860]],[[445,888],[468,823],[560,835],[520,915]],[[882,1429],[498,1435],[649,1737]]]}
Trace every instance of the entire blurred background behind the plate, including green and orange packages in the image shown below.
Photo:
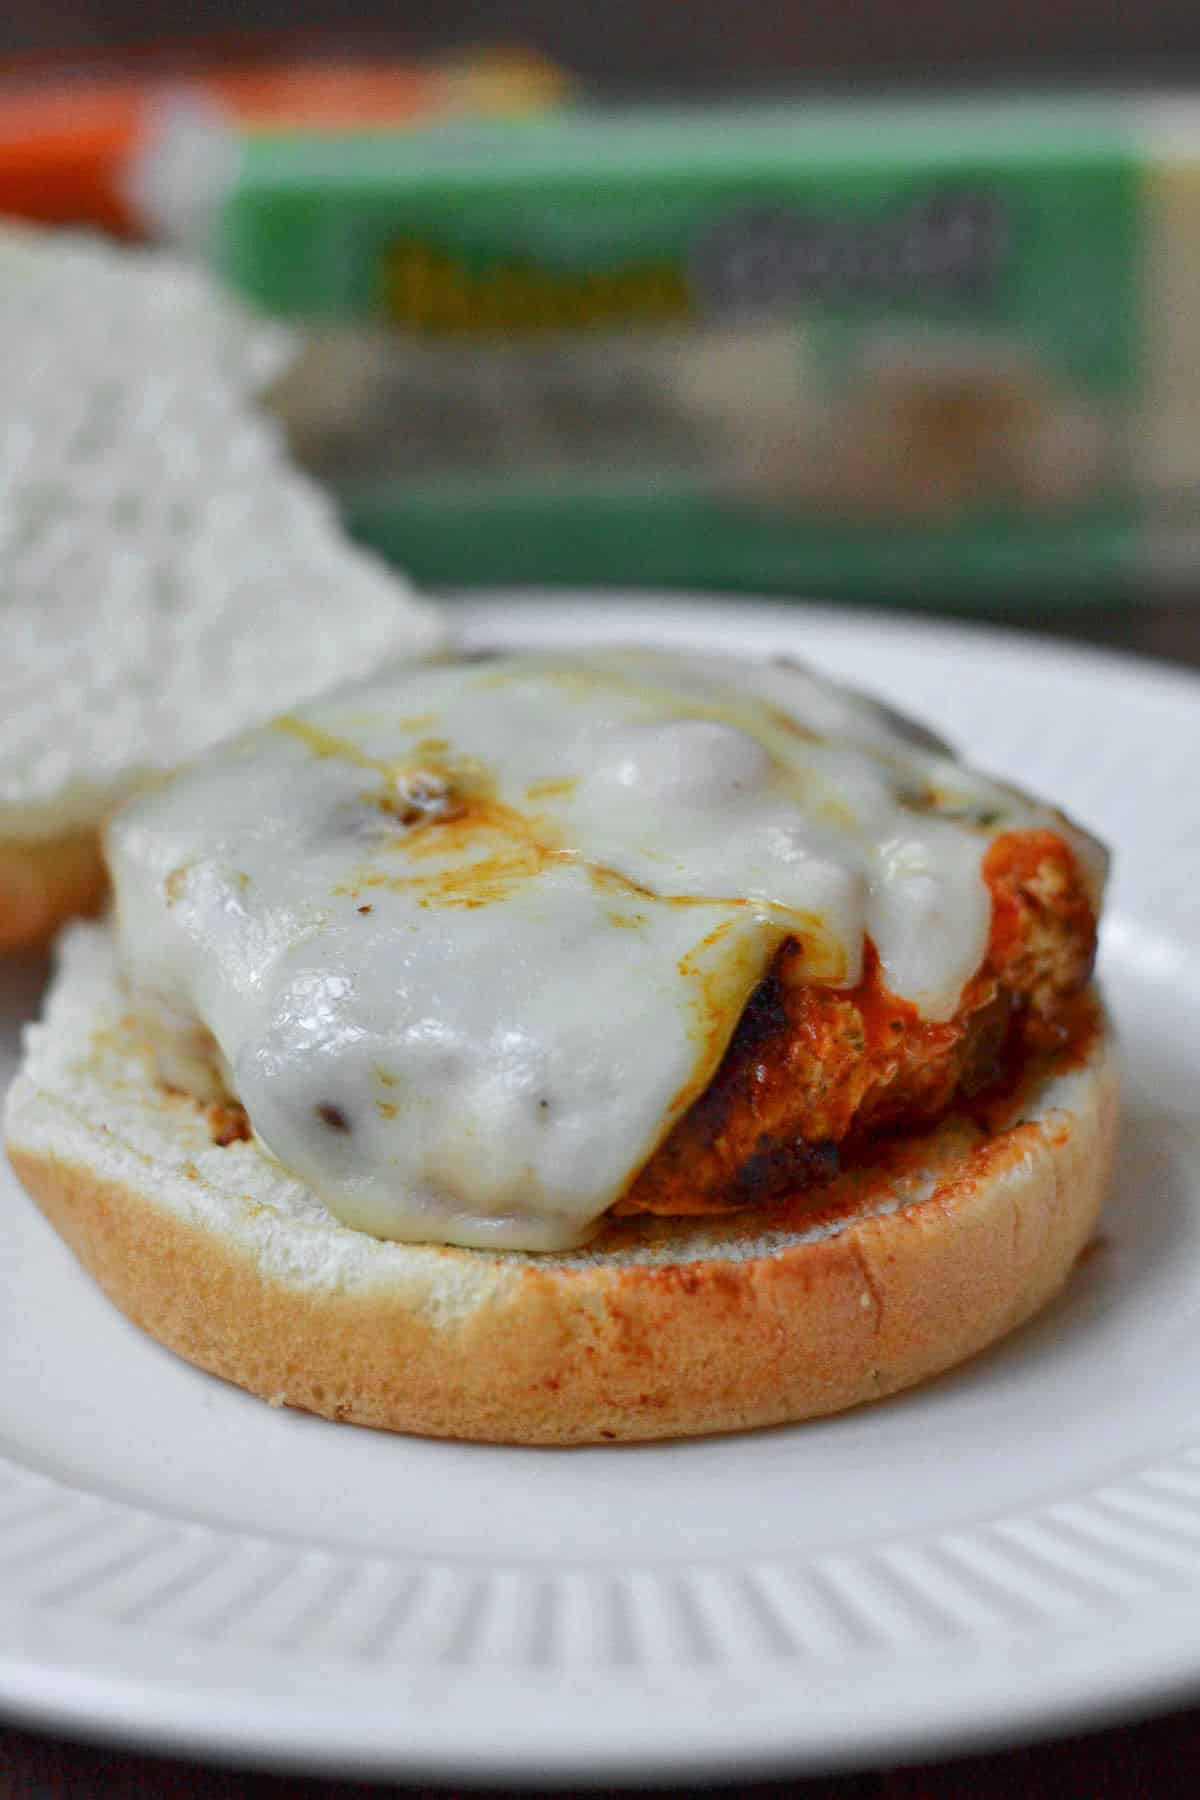
{"label": "entire blurred background behind the plate, including green and orange packages", "polygon": [[1200,11],[9,0],[0,212],[207,261],[430,585],[1193,657]]}

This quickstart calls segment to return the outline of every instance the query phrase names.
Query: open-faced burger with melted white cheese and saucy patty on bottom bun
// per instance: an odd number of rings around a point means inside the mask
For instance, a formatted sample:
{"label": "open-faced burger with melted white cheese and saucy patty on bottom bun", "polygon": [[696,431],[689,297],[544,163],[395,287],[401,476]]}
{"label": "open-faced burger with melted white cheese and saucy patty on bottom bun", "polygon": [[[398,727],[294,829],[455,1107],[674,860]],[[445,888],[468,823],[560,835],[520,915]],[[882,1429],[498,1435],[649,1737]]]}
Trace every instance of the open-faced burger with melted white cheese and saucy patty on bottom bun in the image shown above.
{"label": "open-faced burger with melted white cheese and saucy patty on bottom bun", "polygon": [[1105,855],[781,661],[394,668],[112,821],[13,1163],[180,1355],[398,1431],[799,1420],[1065,1282]]}

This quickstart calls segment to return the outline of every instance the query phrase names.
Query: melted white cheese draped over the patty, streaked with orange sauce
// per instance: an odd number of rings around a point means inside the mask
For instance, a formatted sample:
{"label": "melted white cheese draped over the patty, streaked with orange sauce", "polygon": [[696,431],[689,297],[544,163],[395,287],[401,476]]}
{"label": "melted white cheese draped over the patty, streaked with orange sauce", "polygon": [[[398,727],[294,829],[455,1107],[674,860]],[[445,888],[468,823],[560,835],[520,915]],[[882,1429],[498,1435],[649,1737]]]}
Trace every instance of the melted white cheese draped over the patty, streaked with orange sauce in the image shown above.
{"label": "melted white cheese draped over the patty, streaked with orange sauce", "polygon": [[137,799],[108,851],[173,1067],[194,1075],[200,1022],[338,1217],[565,1249],[784,938],[846,986],[871,934],[887,985],[948,1019],[986,950],[986,846],[1040,823],[1063,828],[804,670],[615,652],[392,671]]}

